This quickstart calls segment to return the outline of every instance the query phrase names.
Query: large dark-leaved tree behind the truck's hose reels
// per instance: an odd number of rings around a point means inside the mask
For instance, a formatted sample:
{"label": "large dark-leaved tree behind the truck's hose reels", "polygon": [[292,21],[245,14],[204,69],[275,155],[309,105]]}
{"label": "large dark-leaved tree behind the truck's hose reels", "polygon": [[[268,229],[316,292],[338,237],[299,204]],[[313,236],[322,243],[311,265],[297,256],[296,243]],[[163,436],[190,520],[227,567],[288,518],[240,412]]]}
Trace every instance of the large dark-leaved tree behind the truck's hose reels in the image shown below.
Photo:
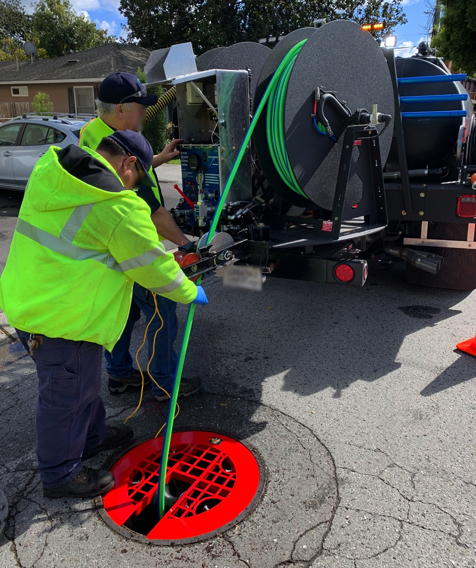
{"label": "large dark-leaved tree behind the truck's hose reels", "polygon": [[128,41],[148,49],[192,41],[197,55],[237,41],[257,41],[312,25],[315,18],[351,19],[359,23],[384,19],[389,33],[406,23],[402,0],[121,0],[128,18]]}

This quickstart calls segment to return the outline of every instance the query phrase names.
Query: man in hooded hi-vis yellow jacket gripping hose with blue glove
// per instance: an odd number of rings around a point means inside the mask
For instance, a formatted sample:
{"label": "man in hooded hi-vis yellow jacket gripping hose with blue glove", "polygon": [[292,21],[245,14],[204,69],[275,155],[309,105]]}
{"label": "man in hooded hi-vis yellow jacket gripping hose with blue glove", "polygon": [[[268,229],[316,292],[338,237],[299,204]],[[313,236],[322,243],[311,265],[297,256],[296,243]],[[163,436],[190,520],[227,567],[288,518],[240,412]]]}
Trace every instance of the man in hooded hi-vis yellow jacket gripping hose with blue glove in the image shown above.
{"label": "man in hooded hi-vis yellow jacket gripping hose with blue glove", "polygon": [[50,498],[109,490],[112,474],[83,461],[133,436],[126,425],[108,428],[99,396],[103,347],[122,334],[133,283],[174,302],[207,303],[131,190],[154,183],[151,162],[143,136],[115,132],[96,151],[51,146],[29,178],[0,307],[36,363],[36,454]]}

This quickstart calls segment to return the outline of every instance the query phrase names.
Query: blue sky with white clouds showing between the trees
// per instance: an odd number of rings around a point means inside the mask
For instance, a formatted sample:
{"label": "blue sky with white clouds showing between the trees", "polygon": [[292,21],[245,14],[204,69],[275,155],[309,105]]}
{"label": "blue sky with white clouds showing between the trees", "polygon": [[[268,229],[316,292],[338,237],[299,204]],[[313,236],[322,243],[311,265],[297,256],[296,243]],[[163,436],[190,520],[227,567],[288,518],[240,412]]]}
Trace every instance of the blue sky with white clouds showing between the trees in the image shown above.
{"label": "blue sky with white clouds showing between the trees", "polygon": [[[423,12],[428,10],[430,2],[432,0],[403,0],[409,23],[398,26],[395,30],[398,55],[413,55],[416,46],[424,39],[428,16]],[[96,23],[96,27],[108,30],[109,34],[125,37],[121,24],[126,24],[127,20],[118,12],[119,0],[72,0],[72,3],[76,12],[87,14]]]}

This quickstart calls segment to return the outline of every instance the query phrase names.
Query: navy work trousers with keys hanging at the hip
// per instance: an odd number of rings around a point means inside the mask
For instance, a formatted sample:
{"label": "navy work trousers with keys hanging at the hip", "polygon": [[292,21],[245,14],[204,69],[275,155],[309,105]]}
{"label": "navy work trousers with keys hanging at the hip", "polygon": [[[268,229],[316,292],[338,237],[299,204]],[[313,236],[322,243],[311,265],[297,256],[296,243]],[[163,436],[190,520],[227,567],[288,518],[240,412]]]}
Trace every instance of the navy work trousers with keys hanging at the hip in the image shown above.
{"label": "navy work trousers with keys hanging at the hip", "polygon": [[[29,333],[16,333],[29,352]],[[108,432],[99,396],[103,348],[90,341],[42,338],[32,357],[39,391],[35,450],[43,487],[54,489],[78,475],[83,452],[99,446]]]}

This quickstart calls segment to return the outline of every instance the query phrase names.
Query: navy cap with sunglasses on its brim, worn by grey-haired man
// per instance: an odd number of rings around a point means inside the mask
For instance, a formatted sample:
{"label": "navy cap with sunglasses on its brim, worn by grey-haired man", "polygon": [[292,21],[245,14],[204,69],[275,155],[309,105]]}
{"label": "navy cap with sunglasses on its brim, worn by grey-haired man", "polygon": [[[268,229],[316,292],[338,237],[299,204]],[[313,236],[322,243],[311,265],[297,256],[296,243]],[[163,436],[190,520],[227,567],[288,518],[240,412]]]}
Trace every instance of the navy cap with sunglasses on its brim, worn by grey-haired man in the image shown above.
{"label": "navy cap with sunglasses on its brim, worn by grey-haired man", "polygon": [[147,88],[142,85],[132,73],[111,73],[99,85],[97,98],[103,103],[138,103],[138,105],[155,105],[158,98],[147,94]]}

